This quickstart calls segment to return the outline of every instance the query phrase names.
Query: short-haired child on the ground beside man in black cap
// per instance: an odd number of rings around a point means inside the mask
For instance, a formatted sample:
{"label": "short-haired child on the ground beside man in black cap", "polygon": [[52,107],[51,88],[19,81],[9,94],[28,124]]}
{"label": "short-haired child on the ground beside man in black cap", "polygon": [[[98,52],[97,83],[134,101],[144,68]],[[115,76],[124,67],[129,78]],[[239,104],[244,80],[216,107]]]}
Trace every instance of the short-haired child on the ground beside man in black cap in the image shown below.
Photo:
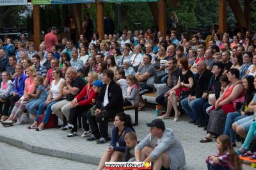
{"label": "short-haired child on the ground beside man in black cap", "polygon": [[134,162],[134,148],[137,146],[137,136],[134,132],[128,132],[124,136],[124,141],[126,143],[126,148],[123,155],[123,162]]}

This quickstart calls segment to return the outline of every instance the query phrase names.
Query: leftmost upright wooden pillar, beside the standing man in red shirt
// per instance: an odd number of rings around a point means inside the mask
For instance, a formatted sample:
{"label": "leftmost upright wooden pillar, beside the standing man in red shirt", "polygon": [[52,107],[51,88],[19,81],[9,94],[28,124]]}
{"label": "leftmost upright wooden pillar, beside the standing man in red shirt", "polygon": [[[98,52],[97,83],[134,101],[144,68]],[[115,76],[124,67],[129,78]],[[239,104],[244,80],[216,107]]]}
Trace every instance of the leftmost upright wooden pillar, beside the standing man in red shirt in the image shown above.
{"label": "leftmost upright wooden pillar, beside the standing man in red shirt", "polygon": [[33,5],[33,29],[34,29],[34,43],[35,50],[39,50],[39,45],[41,43],[41,29],[40,29],[40,6],[38,4]]}

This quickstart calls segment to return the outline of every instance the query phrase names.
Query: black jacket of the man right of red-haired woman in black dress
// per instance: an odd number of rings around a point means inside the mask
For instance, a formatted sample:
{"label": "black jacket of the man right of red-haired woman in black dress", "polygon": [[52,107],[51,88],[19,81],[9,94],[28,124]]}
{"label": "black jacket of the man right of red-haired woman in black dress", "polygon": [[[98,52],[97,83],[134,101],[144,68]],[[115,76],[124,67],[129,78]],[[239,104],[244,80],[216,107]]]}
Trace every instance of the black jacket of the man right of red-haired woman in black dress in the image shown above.
{"label": "black jacket of the man right of red-haired woman in black dress", "polygon": [[202,98],[202,95],[209,84],[211,76],[212,73],[209,72],[207,69],[204,73],[202,73],[201,77],[199,73],[196,73],[194,77],[194,85],[189,95],[195,96],[196,98]]}

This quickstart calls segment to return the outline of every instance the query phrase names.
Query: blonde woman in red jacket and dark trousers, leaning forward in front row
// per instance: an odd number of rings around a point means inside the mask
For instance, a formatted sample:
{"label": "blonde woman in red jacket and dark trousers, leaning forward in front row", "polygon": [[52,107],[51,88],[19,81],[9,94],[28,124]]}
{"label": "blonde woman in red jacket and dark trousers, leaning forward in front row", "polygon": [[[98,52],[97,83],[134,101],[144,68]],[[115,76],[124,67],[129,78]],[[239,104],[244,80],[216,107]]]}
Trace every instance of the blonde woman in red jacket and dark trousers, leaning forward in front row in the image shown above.
{"label": "blonde woman in red jacket and dark trousers, leaning forward in front row", "polygon": [[84,86],[83,90],[72,100],[70,103],[70,114],[68,119],[68,124],[72,127],[68,137],[73,137],[77,135],[77,115],[83,114],[83,128],[84,133],[81,137],[90,137],[92,134],[90,132],[90,127],[87,123],[86,113],[93,106],[93,100],[95,101],[97,93],[93,90],[93,82],[97,81],[98,75],[96,72],[88,73],[87,84]]}

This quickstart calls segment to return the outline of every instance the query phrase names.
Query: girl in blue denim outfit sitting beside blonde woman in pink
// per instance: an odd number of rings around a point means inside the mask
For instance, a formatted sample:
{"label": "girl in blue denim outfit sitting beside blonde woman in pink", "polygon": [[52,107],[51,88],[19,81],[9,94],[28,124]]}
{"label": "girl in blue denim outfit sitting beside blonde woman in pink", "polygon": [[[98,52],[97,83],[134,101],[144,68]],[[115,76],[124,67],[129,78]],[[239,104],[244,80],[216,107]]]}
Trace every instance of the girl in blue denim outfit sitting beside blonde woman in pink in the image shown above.
{"label": "girl in blue denim outfit sitting beside blonde woman in pink", "polygon": [[[44,87],[44,79],[41,76],[35,78],[35,88],[36,94],[28,93],[28,97],[31,97],[31,100],[26,104],[26,109],[31,114],[33,120],[36,118],[36,111],[40,104],[45,102],[47,98],[46,89]],[[35,121],[28,129],[36,128],[37,122]]]}

